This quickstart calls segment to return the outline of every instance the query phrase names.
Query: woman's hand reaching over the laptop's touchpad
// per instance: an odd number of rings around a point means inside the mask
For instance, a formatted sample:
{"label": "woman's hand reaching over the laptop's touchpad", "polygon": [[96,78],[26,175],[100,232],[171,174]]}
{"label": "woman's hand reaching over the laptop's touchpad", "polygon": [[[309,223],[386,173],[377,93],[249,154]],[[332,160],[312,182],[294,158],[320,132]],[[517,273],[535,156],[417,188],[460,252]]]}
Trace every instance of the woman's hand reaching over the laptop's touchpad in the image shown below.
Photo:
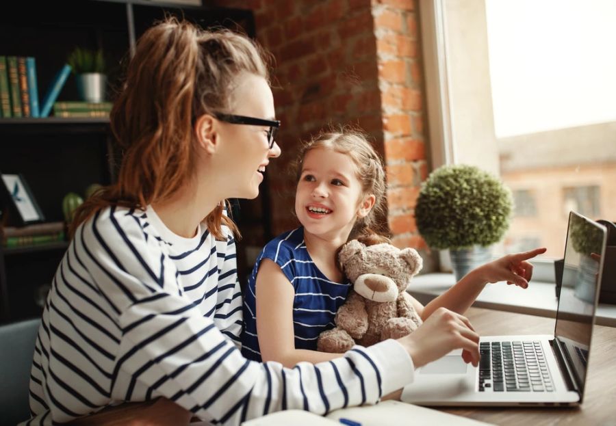
{"label": "woman's hand reaching over the laptop's touchpad", "polygon": [[420,327],[398,339],[413,359],[415,368],[463,349],[462,358],[475,367],[479,364],[479,335],[470,321],[447,308],[438,308]]}

